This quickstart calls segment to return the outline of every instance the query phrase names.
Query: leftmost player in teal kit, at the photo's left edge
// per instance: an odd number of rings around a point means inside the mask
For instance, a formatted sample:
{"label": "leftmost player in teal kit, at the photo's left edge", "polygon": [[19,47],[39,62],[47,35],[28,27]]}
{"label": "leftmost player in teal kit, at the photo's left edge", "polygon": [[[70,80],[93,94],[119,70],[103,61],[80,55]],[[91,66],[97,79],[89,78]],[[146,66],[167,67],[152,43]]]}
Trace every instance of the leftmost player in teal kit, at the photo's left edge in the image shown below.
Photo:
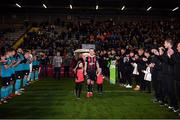
{"label": "leftmost player in teal kit, at the photo's left edge", "polygon": [[1,102],[7,103],[8,91],[9,91],[9,81],[11,79],[11,70],[9,69],[8,62],[5,56],[1,56],[1,77],[2,77],[2,87],[1,87]]}

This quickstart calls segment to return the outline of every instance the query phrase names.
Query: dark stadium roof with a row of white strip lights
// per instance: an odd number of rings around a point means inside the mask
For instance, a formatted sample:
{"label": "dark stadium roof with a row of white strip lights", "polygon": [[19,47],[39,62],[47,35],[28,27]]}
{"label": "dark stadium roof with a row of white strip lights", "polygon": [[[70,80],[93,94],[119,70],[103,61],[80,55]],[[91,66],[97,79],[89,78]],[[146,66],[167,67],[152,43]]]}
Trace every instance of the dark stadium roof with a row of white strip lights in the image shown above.
{"label": "dark stadium roof with a row of white strip lights", "polygon": [[[43,5],[44,4],[44,5]],[[179,14],[180,0],[1,0],[1,12]],[[21,9],[20,9],[21,8]],[[47,8],[47,9],[45,9]]]}

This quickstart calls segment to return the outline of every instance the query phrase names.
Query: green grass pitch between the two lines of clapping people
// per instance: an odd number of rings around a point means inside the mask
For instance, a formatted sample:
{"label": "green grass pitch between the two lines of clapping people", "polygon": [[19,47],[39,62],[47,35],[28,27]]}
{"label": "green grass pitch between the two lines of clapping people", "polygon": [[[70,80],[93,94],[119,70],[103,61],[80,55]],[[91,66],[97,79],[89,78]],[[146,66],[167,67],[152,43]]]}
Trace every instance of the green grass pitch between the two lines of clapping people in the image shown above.
{"label": "green grass pitch between the two lines of clapping people", "polygon": [[46,78],[31,84],[25,94],[0,105],[0,118],[180,118],[166,107],[153,104],[152,95],[110,85],[104,93],[81,99],[73,94],[73,79]]}

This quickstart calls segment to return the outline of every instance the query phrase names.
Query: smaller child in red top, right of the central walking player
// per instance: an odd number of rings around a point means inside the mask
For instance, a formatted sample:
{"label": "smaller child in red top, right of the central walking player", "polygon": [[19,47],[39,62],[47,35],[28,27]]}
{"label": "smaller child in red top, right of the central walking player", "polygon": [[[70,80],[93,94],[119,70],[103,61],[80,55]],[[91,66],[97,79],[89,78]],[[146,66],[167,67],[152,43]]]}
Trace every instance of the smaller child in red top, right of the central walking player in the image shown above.
{"label": "smaller child in red top, right of the central walking player", "polygon": [[98,74],[97,74],[97,91],[99,94],[102,94],[102,89],[103,89],[103,81],[104,81],[104,77],[102,75],[102,69],[99,68]]}

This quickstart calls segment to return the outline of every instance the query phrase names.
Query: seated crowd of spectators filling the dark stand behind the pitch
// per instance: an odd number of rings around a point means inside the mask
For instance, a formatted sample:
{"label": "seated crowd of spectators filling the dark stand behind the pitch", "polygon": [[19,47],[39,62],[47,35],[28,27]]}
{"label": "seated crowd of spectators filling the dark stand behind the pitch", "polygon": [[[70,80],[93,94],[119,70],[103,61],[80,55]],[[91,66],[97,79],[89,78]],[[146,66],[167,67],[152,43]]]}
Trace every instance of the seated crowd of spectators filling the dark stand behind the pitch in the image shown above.
{"label": "seated crowd of spectators filling the dark stand behind the pitch", "polygon": [[42,48],[49,51],[72,52],[82,43],[92,43],[96,49],[120,47],[151,48],[162,44],[163,39],[171,37],[177,40],[180,24],[175,21],[139,21],[139,22],[78,22],[61,25],[61,32],[55,25],[41,26],[39,33],[29,33],[23,46]]}

